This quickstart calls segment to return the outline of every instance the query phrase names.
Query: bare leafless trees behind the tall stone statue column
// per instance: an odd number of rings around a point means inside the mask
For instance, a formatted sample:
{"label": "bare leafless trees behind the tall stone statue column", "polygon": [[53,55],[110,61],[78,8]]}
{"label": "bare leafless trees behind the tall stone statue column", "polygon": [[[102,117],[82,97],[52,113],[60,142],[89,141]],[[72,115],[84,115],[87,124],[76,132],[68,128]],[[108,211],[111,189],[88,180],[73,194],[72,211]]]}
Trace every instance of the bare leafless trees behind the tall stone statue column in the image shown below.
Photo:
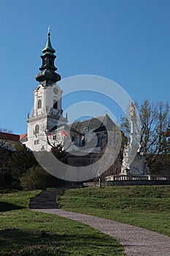
{"label": "bare leafless trees behind the tall stone statue column", "polygon": [[[144,146],[144,154],[147,164],[154,172],[158,171],[159,165],[156,162],[164,162],[170,157],[170,111],[169,104],[163,102],[150,102],[145,99],[142,105],[136,103],[141,119],[141,143]],[[127,118],[121,118],[121,130],[128,137],[130,127]],[[162,157],[160,157],[162,156]],[[153,165],[154,164],[154,165]],[[169,165],[169,164],[168,164]],[[153,168],[154,166],[154,168]],[[170,174],[170,166],[169,166]]]}

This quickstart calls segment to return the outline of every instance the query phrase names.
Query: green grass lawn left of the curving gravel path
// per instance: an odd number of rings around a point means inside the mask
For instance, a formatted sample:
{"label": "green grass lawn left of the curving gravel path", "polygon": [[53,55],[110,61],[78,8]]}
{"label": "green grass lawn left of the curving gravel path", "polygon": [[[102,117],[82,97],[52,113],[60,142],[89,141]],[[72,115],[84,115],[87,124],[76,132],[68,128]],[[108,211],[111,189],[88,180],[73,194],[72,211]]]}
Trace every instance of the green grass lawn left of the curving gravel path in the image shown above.
{"label": "green grass lawn left of the curving gravel path", "polygon": [[124,255],[123,246],[92,227],[30,211],[28,200],[38,192],[1,194],[1,256]]}

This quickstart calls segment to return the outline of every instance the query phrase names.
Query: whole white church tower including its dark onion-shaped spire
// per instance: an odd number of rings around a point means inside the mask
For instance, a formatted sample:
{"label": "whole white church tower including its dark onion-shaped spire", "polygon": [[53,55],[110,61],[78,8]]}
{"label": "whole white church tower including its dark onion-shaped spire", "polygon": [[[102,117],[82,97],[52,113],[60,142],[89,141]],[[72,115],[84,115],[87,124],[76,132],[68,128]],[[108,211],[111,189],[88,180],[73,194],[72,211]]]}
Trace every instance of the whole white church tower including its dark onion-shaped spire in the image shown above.
{"label": "whole white church tower including its dark onion-shaped spire", "polygon": [[61,80],[55,67],[55,50],[50,42],[50,29],[47,34],[47,44],[42,50],[42,67],[36,75],[39,85],[34,90],[34,108],[32,115],[28,114],[28,140],[26,146],[32,151],[49,151],[47,134],[51,129],[55,129],[61,124],[67,123],[67,118],[63,117],[61,106],[63,91],[57,85]]}

